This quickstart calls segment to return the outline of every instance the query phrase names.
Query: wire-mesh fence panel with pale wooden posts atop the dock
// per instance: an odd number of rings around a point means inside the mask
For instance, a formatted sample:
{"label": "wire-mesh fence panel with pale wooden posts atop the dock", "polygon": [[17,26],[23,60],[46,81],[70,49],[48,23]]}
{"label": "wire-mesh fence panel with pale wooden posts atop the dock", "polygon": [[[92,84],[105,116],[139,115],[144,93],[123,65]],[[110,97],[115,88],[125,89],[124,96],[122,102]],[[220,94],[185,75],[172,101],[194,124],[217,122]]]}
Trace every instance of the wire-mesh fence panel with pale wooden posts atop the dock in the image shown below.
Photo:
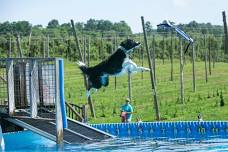
{"label": "wire-mesh fence panel with pale wooden posts atop the dock", "polygon": [[[59,58],[0,58],[0,112],[14,116],[25,110],[45,118],[60,100]],[[63,75],[63,74],[62,74]]]}

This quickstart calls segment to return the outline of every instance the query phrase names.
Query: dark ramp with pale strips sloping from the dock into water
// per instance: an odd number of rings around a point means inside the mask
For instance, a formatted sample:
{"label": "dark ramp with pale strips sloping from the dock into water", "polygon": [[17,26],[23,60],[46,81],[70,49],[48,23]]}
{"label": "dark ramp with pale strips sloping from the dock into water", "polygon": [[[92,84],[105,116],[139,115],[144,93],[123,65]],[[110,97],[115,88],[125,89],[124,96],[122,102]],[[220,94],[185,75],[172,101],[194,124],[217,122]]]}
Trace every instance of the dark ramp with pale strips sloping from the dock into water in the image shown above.
{"label": "dark ramp with pale strips sloping from the dock into water", "polygon": [[[7,117],[5,119],[50,140],[56,141],[56,125],[54,119],[41,117],[35,119],[30,118],[26,112],[16,113],[15,117]],[[63,130],[64,143],[85,143],[112,137],[114,136],[71,119],[68,119],[68,128]]]}

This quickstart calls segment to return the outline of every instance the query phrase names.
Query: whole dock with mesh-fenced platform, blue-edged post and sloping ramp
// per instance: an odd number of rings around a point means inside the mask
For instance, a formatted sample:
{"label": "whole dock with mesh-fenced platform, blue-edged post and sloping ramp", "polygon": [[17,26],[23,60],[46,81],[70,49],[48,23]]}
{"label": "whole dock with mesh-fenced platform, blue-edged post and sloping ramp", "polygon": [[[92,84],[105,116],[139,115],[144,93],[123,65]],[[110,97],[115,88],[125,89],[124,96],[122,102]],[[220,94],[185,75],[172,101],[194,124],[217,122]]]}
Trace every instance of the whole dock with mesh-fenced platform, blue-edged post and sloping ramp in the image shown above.
{"label": "whole dock with mesh-fenced platform, blue-edged post and sloping ramp", "polygon": [[63,59],[0,58],[0,65],[0,125],[4,128],[28,129],[57,144],[113,137],[84,120],[67,117]]}

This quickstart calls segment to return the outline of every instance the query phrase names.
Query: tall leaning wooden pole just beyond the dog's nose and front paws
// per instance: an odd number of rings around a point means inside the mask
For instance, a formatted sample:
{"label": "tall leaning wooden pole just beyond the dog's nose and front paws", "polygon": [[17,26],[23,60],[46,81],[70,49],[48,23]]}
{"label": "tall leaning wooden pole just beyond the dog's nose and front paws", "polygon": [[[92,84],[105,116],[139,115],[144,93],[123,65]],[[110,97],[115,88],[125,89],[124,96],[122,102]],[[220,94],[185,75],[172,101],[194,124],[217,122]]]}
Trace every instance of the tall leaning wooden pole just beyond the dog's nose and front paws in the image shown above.
{"label": "tall leaning wooden pole just beyond the dog's nose and front paws", "polygon": [[148,58],[148,63],[149,63],[149,67],[150,67],[150,80],[151,80],[151,85],[152,85],[152,95],[154,97],[154,108],[156,111],[156,120],[159,121],[160,120],[160,113],[159,113],[159,107],[158,107],[156,85],[155,85],[155,80],[154,80],[154,69],[153,69],[153,66],[151,63],[151,59],[150,59],[150,52],[149,52],[149,48],[148,48],[148,44],[147,44],[147,34],[145,31],[145,24],[144,24],[143,16],[141,16],[141,20],[142,20],[142,28],[143,28],[144,42],[145,42],[145,47],[146,47],[146,52],[147,52],[147,58]]}

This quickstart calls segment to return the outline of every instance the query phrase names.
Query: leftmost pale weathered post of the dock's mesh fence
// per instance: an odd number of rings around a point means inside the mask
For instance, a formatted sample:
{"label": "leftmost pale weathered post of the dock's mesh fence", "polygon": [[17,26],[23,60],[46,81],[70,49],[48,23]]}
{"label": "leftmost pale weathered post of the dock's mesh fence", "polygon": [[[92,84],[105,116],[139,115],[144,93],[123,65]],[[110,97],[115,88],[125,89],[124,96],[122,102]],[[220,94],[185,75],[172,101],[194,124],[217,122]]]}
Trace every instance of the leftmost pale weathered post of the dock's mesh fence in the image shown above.
{"label": "leftmost pale weathered post of the dock's mesh fence", "polygon": [[13,60],[6,60],[7,72],[7,90],[8,90],[8,108],[9,115],[13,116],[15,112],[15,98],[14,98],[14,65]]}

